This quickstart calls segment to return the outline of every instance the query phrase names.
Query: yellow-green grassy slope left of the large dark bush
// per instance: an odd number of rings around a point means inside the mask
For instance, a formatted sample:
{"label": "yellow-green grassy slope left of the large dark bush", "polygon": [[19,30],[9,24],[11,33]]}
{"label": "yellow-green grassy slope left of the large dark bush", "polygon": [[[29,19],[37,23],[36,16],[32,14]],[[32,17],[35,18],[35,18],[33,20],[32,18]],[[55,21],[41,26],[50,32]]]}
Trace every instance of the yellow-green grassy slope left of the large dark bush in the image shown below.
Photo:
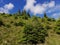
{"label": "yellow-green grassy slope left of the large dark bush", "polygon": [[[19,45],[19,42],[22,39],[22,30],[24,27],[15,26],[14,23],[24,20],[21,20],[19,17],[18,19],[15,19],[14,16],[7,15],[0,16],[0,19],[5,25],[11,26],[9,28],[7,28],[8,26],[0,27],[0,45]],[[13,23],[11,23],[11,21],[13,21]]]}

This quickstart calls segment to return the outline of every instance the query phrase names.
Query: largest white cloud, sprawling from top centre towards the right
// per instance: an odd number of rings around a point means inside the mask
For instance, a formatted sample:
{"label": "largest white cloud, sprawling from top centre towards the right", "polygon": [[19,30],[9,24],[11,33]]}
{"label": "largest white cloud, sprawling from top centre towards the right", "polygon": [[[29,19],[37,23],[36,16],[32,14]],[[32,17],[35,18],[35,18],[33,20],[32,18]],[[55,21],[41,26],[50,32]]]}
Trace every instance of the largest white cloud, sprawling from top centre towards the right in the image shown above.
{"label": "largest white cloud, sprawling from top centre towards the right", "polygon": [[33,14],[42,14],[44,13],[48,8],[53,8],[55,6],[55,2],[51,1],[49,3],[43,3],[43,4],[36,4],[37,1],[35,0],[26,0],[26,5],[24,6],[24,10],[30,11]]}

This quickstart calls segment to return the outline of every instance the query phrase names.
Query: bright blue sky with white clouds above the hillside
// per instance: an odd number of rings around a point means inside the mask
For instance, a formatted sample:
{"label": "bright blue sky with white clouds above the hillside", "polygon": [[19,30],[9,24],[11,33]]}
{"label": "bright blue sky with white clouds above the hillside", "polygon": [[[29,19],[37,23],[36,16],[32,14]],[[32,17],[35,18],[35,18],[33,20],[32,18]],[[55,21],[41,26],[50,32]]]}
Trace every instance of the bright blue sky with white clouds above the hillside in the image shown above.
{"label": "bright blue sky with white clouds above the hillside", "polygon": [[29,11],[32,15],[49,17],[60,16],[60,0],[0,0],[0,13],[15,13],[18,9]]}

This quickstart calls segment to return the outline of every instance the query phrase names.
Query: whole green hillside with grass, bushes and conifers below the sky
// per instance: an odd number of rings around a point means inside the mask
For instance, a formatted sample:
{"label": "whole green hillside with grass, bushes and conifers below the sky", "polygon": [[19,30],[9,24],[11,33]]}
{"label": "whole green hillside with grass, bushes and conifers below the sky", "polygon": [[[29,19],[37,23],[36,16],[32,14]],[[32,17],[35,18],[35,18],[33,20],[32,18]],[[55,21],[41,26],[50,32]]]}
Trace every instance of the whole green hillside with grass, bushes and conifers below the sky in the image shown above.
{"label": "whole green hillside with grass, bushes and conifers below the sky", "polygon": [[0,13],[0,45],[60,45],[60,19],[18,11]]}

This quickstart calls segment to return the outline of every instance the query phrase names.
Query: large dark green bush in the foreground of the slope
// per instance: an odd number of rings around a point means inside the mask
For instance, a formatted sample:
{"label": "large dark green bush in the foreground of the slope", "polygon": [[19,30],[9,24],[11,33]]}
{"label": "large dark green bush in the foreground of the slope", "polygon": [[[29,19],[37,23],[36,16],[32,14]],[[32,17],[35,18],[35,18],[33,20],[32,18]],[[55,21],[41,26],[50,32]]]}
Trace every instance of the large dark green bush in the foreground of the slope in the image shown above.
{"label": "large dark green bush in the foreground of the slope", "polygon": [[48,35],[47,30],[40,24],[36,26],[26,24],[23,32],[23,38],[25,38],[23,42],[29,44],[44,43],[45,37]]}

